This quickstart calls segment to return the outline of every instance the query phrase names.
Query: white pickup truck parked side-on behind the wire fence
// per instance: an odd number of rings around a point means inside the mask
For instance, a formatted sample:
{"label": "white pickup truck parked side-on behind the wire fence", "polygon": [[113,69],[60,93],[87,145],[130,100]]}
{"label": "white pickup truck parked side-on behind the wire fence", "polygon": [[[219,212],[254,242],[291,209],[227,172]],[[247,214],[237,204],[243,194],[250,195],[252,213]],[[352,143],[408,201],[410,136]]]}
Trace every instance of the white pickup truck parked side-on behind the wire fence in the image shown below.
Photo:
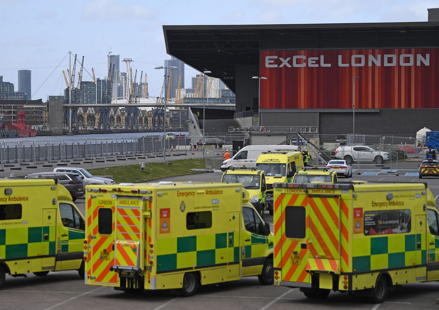
{"label": "white pickup truck parked side-on behind the wire fence", "polygon": [[354,161],[373,161],[375,164],[384,164],[389,160],[390,154],[377,151],[369,146],[338,146],[335,149],[335,158],[346,160],[351,165]]}

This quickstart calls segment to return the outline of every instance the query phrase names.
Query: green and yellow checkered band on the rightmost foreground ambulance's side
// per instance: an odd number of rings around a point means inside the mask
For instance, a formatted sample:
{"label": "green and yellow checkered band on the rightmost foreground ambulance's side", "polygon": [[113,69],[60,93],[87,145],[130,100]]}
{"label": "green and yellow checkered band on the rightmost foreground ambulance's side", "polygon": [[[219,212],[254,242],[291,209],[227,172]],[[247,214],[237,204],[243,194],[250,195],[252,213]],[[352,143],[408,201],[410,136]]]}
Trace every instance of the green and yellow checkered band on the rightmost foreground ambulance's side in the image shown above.
{"label": "green and yellow checkered band on the rightmost foreground ambulance's side", "polygon": [[421,234],[353,239],[353,272],[425,264],[425,243],[425,235]]}

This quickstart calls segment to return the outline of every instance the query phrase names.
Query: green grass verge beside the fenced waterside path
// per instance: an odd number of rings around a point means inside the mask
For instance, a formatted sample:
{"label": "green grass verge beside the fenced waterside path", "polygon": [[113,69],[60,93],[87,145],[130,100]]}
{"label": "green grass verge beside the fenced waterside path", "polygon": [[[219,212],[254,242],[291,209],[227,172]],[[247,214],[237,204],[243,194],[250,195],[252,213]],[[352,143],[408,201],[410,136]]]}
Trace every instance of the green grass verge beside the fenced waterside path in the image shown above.
{"label": "green grass verge beside the fenced waterside path", "polygon": [[171,166],[164,163],[146,163],[145,170],[140,170],[139,164],[93,169],[94,175],[112,175],[116,183],[141,182],[156,178],[166,178],[173,175],[193,173],[189,169],[204,168],[202,158],[172,160]]}

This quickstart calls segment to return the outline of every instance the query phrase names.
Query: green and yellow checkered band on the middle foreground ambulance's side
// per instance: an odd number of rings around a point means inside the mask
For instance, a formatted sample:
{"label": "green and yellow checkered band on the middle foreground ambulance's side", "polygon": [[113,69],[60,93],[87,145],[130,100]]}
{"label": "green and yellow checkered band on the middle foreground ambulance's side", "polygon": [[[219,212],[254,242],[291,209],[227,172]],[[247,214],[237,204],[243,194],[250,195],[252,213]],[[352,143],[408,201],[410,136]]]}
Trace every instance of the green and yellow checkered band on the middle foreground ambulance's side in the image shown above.
{"label": "green and yellow checkered band on the middle foreground ambulance's side", "polygon": [[158,239],[157,251],[158,273],[239,262],[239,233]]}

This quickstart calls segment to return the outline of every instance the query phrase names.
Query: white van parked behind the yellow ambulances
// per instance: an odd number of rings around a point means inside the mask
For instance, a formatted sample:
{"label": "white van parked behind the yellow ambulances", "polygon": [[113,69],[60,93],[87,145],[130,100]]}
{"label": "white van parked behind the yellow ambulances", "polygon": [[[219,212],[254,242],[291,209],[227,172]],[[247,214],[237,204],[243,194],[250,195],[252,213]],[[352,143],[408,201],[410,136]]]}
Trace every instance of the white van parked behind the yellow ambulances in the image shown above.
{"label": "white van parked behind the yellow ambulances", "polygon": [[223,161],[222,171],[230,167],[254,167],[259,155],[269,151],[297,151],[295,145],[249,145],[244,146],[234,157]]}

